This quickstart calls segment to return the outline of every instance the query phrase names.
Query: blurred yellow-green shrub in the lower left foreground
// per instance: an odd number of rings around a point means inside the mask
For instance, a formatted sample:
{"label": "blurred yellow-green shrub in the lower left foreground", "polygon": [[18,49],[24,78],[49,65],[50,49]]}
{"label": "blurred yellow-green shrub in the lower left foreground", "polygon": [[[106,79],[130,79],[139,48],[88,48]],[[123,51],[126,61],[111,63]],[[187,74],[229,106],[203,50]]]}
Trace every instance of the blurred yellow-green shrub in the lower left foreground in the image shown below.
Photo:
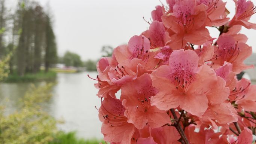
{"label": "blurred yellow-green shrub in the lower left foreground", "polygon": [[83,140],[75,132],[58,131],[57,123],[62,121],[46,113],[41,104],[52,97],[54,83],[41,86],[31,85],[21,99],[22,107],[11,114],[4,113],[0,106],[0,143],[1,144],[99,144],[103,141]]}

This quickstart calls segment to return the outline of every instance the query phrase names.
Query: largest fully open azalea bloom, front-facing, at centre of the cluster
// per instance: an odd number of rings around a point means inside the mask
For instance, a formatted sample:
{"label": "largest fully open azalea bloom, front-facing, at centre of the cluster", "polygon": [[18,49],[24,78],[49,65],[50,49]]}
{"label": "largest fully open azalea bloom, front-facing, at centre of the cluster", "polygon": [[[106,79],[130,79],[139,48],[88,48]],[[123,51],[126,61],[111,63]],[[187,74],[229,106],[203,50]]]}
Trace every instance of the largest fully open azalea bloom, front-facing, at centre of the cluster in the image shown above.
{"label": "largest fully open azalea bloom, front-facing, at centre of the cluster", "polygon": [[159,89],[158,94],[151,99],[152,105],[161,110],[179,106],[196,116],[201,116],[207,109],[205,93],[211,89],[211,83],[217,80],[210,67],[198,67],[198,55],[193,50],[183,49],[171,53],[169,66],[162,65],[151,77],[153,86]]}

